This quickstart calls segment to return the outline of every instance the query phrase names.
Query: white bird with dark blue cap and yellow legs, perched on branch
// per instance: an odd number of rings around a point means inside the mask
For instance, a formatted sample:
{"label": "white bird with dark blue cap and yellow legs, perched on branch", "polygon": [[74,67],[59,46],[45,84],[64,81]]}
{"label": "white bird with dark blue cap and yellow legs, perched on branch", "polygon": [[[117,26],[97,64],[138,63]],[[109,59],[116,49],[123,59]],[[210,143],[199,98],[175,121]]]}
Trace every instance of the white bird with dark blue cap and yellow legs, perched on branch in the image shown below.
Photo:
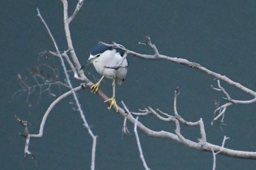
{"label": "white bird with dark blue cap and yellow legs, perched on branch", "polygon": [[[119,47],[124,48],[124,46],[117,44]],[[91,92],[96,93],[98,91],[99,85],[104,77],[108,79],[113,79],[113,96],[104,103],[109,102],[110,106],[108,109],[111,109],[114,105],[116,107],[116,112],[118,112],[118,106],[116,104],[116,83],[122,84],[124,81],[128,62],[126,58],[122,59],[124,52],[121,49],[115,49],[109,46],[106,46],[102,43],[98,43],[94,48],[91,49],[91,54],[85,64],[81,67],[83,69],[89,64],[93,64],[98,73],[102,74],[102,78],[98,83],[91,86]],[[81,70],[80,69],[80,70]]]}

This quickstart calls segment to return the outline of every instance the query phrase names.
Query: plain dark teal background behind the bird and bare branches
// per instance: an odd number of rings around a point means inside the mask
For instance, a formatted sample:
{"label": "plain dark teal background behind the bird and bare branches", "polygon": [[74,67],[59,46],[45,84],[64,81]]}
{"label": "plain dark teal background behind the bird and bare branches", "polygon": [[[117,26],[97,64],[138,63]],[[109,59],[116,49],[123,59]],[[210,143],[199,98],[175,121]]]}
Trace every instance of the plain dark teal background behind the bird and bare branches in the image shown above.
{"label": "plain dark teal background behind the bird and bare branches", "polygon": [[[69,15],[77,1],[69,4]],[[37,134],[42,117],[55,98],[44,94],[40,103],[37,92],[31,95],[29,109],[25,95],[12,95],[21,89],[17,74],[28,77],[37,63],[50,63],[38,57],[44,50],[55,50],[48,33],[37,17],[39,8],[60,50],[67,50],[63,27],[63,9],[59,0],[19,0],[2,2],[0,6],[0,169],[2,170],[87,170],[91,165],[91,138],[83,127],[80,115],[73,110],[72,97],[56,105],[50,113],[42,139],[30,140],[30,157],[24,158],[25,140],[19,135],[24,129],[14,114],[29,121],[30,133]],[[79,61],[83,63],[98,41],[115,42],[142,54],[152,49],[139,45],[145,36],[152,38],[159,52],[171,57],[194,61],[208,69],[226,75],[242,85],[256,90],[256,1],[134,1],[86,0],[77,18],[70,24],[71,36]],[[54,60],[54,59],[52,59]],[[58,59],[56,67],[61,66]],[[128,75],[116,86],[117,103],[123,100],[132,111],[150,105],[173,114],[173,95],[177,86],[179,114],[188,121],[204,120],[207,141],[221,145],[224,135],[230,137],[226,147],[256,152],[256,104],[235,105],[227,109],[226,125],[213,118],[213,100],[225,97],[211,91],[216,80],[192,68],[167,61],[143,60],[128,56]],[[68,68],[69,69],[69,68]],[[100,75],[92,66],[85,69],[91,81]],[[61,73],[61,78],[63,74]],[[74,86],[80,82],[73,80]],[[111,96],[112,80],[105,79],[101,89]],[[248,100],[251,96],[221,83],[234,99]],[[65,92],[67,89],[62,89]],[[58,91],[53,89],[58,95]],[[78,93],[79,101],[94,134],[98,135],[97,170],[142,170],[143,165],[134,136],[122,140],[123,118],[89,90]],[[225,101],[221,100],[221,103]],[[152,130],[174,133],[175,125],[161,122],[154,116],[139,119]],[[132,125],[128,124],[130,131]],[[223,130],[221,130],[223,129]],[[184,137],[197,141],[199,128],[182,126]],[[146,162],[152,170],[210,170],[213,156],[166,139],[155,139],[139,132]],[[255,160],[217,156],[217,170],[252,170]]]}

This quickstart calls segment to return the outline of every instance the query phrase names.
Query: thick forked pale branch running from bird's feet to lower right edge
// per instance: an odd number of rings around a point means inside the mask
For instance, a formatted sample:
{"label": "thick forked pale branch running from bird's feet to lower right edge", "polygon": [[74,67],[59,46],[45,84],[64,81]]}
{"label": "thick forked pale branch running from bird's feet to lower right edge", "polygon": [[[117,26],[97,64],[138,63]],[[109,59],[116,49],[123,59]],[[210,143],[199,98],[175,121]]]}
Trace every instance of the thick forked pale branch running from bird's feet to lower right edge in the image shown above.
{"label": "thick forked pale branch running from bird's feet to lower right edge", "polygon": [[[146,109],[141,110],[141,111],[143,111],[142,113],[135,113],[134,114],[134,112],[131,112],[134,115],[150,115],[150,114],[153,114],[159,120],[168,121],[168,122],[175,122],[175,124],[176,124],[175,134],[172,134],[170,132],[166,132],[166,131],[163,131],[163,130],[160,131],[160,132],[152,131],[151,129],[146,128],[139,121],[138,121],[137,127],[142,132],[144,132],[145,134],[147,134],[149,136],[156,137],[156,138],[171,139],[171,140],[177,141],[177,142],[179,142],[179,143],[181,143],[185,146],[189,146],[190,148],[194,148],[196,150],[207,151],[207,152],[212,152],[212,150],[214,152],[220,151],[221,146],[216,146],[216,145],[213,145],[213,144],[207,142],[206,132],[205,132],[204,123],[203,123],[202,119],[200,119],[199,121],[196,121],[196,122],[189,122],[189,121],[185,121],[178,114],[178,112],[177,112],[177,103],[176,103],[177,102],[177,96],[178,96],[178,92],[177,92],[177,89],[176,89],[175,95],[174,95],[174,97],[175,97],[175,99],[174,99],[175,116],[170,116],[169,114],[167,114],[167,118],[162,117],[155,110],[153,110],[151,107],[147,107]],[[124,105],[123,102],[122,102],[122,104],[123,104],[124,108],[126,108],[126,106]],[[122,110],[120,109],[120,111],[122,111]],[[166,115],[166,114],[164,114],[164,115]],[[132,123],[135,123],[134,117],[131,116],[130,114],[127,115],[127,119],[129,121],[131,121]],[[201,139],[199,139],[198,142],[194,142],[194,141],[186,139],[181,134],[180,123],[182,123],[184,125],[187,125],[187,126],[197,126],[198,125],[200,127]],[[245,151],[236,151],[236,150],[232,150],[232,149],[225,149],[225,150],[222,150],[221,152],[219,152],[219,154],[227,155],[229,157],[235,157],[235,158],[256,159],[256,152],[245,152]]]}

